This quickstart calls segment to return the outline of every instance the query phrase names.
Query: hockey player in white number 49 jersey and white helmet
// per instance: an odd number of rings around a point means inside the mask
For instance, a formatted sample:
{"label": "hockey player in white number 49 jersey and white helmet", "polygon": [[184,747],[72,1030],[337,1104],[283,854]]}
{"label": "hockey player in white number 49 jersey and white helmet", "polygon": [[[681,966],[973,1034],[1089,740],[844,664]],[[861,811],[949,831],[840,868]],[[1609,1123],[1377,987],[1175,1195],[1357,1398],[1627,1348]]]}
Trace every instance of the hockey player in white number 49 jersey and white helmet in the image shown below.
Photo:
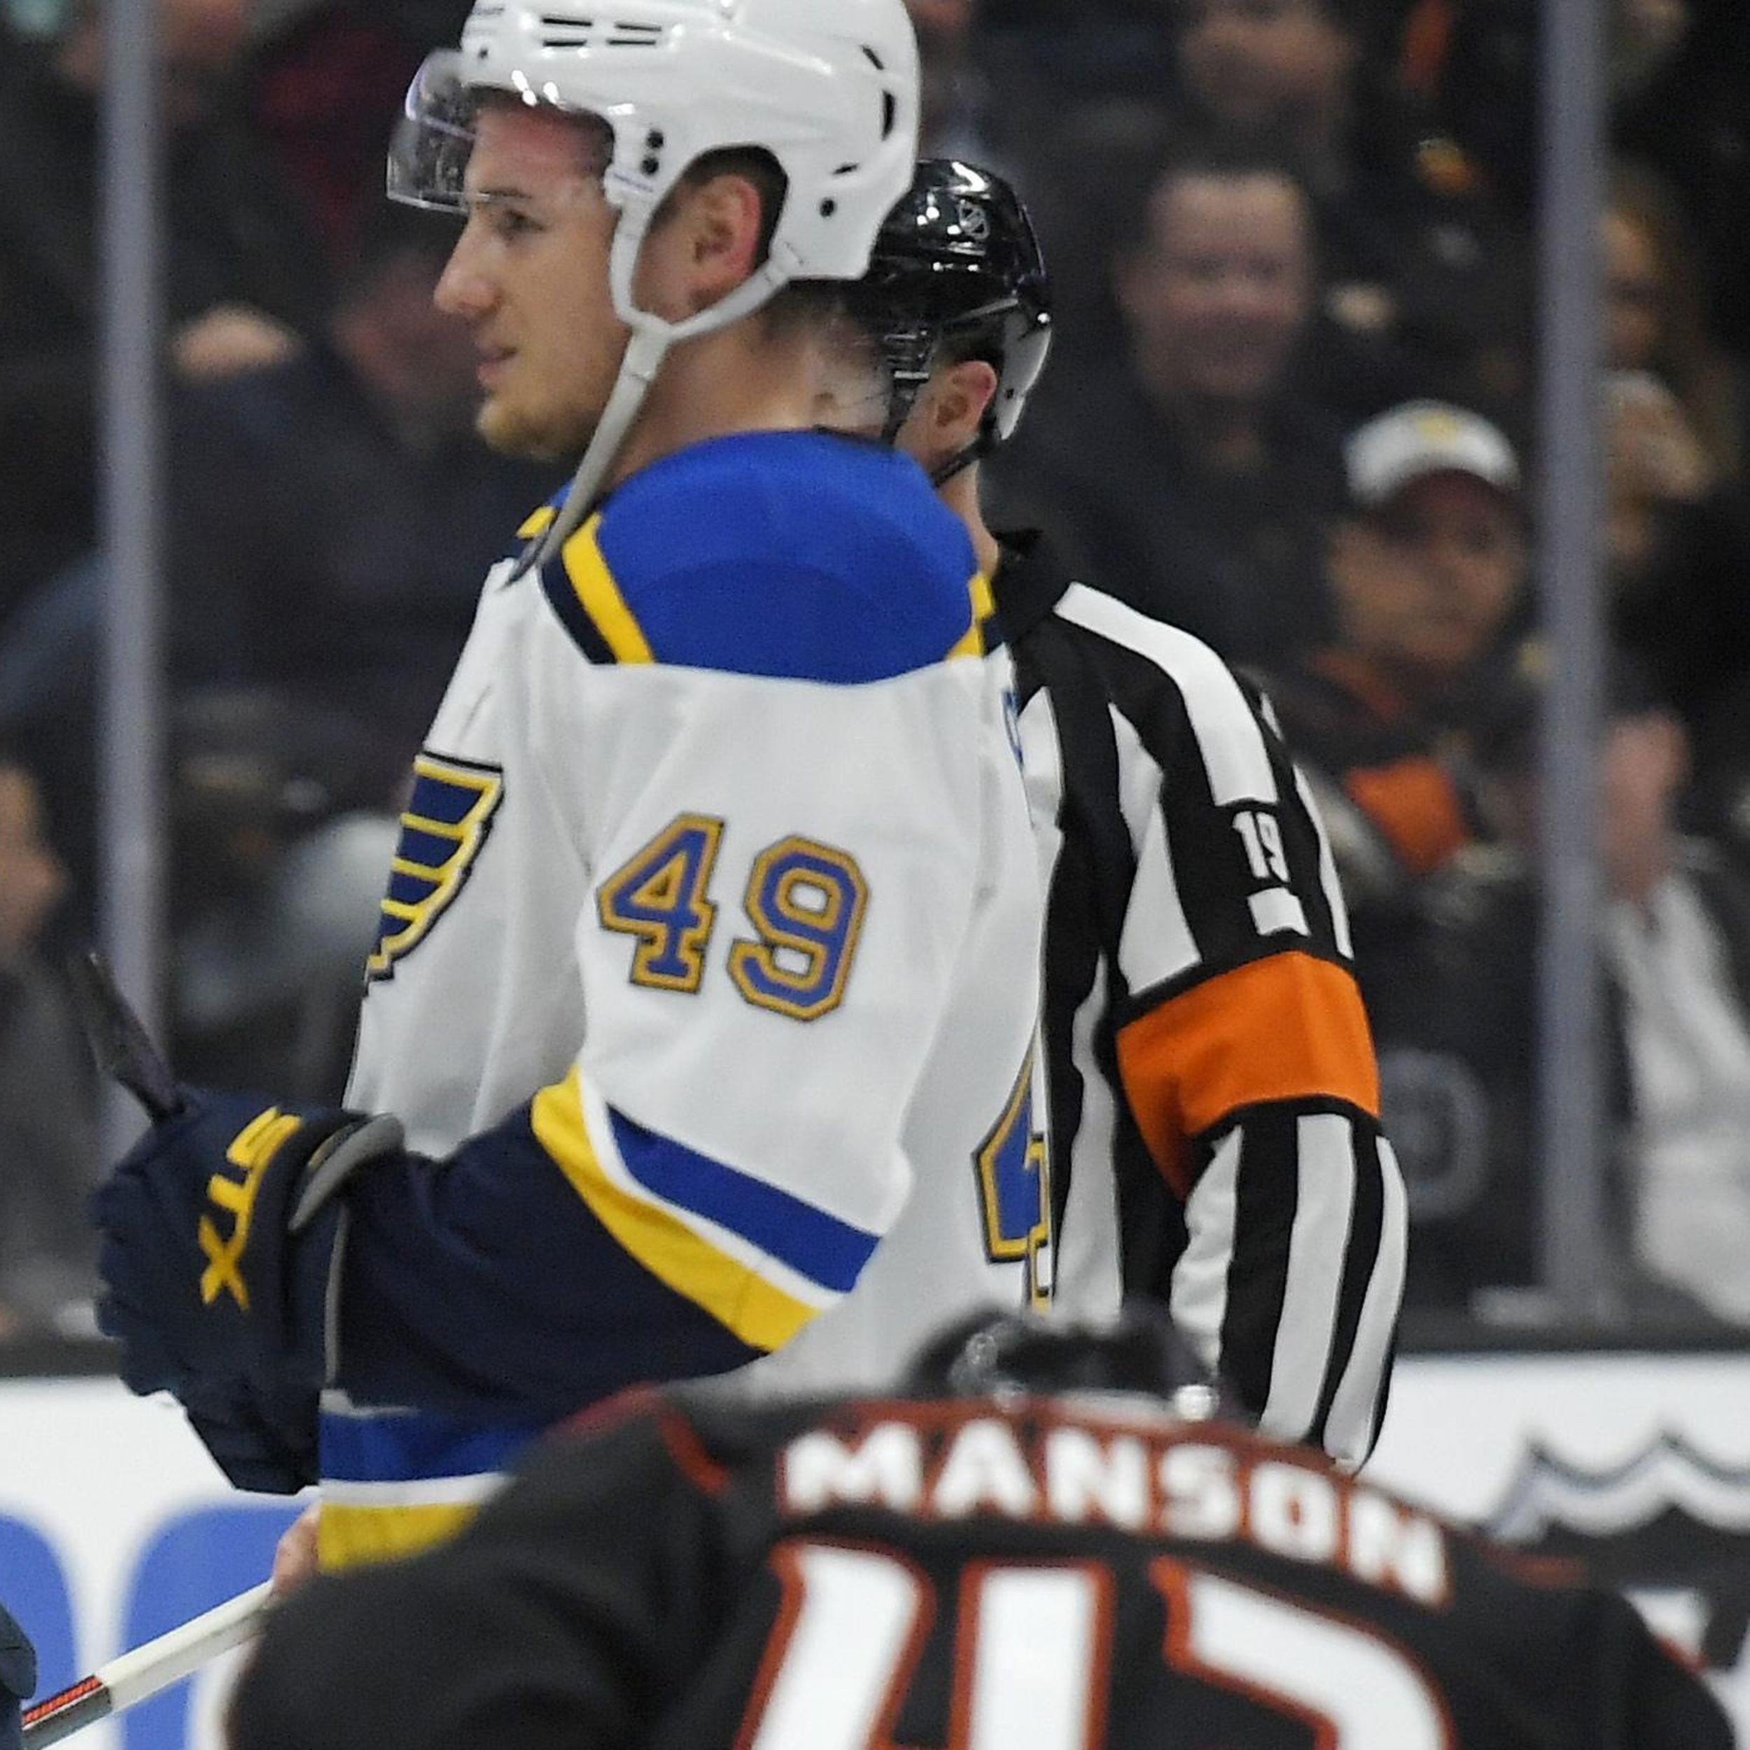
{"label": "hockey player in white number 49 jersey and white helmet", "polygon": [[[910,460],[810,429],[915,108],[901,0],[480,0],[410,94],[481,430],[581,462],[415,765],[348,1110],[191,1096],[96,1206],[124,1377],[233,1480],[308,1480],[324,1390],[327,1564],[628,1382],[816,1320],[887,1379],[1024,1297],[1040,906],[984,584]],[[866,1309],[917,1176],[938,1269]]]}

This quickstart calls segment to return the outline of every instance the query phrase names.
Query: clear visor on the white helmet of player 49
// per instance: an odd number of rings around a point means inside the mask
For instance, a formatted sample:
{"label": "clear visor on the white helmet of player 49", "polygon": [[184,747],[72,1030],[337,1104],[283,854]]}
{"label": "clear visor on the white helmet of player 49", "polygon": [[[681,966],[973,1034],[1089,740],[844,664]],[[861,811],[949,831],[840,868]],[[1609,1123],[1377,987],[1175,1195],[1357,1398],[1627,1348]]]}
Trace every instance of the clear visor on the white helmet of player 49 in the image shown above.
{"label": "clear visor on the white helmet of player 49", "polygon": [[553,86],[537,88],[520,72],[508,84],[481,84],[460,49],[425,56],[408,86],[406,103],[388,142],[388,198],[434,212],[467,212],[467,163],[474,156],[485,105],[527,105],[564,110],[586,135],[583,170],[600,175],[612,158],[612,131],[588,110],[572,108]]}

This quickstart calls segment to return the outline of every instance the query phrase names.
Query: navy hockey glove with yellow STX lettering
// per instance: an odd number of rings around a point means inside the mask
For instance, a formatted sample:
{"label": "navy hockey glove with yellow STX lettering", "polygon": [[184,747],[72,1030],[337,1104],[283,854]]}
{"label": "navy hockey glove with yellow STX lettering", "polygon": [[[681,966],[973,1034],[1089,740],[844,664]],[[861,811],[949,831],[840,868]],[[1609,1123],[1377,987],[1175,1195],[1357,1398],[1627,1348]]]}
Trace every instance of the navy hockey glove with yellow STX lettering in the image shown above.
{"label": "navy hockey glove with yellow STX lettering", "polygon": [[121,1339],[133,1391],[172,1391],[201,1414],[234,1402],[245,1381],[257,1405],[313,1393],[345,1218],[334,1192],[399,1152],[401,1124],[264,1111],[231,1094],[186,1101],[91,1199],[98,1325]]}

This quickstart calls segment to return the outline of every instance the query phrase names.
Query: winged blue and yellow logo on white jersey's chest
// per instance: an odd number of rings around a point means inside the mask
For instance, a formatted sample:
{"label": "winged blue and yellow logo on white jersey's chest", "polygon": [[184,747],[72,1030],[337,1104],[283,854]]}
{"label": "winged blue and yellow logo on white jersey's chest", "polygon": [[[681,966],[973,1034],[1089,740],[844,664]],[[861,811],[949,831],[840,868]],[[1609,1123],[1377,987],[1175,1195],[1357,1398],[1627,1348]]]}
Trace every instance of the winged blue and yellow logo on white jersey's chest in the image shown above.
{"label": "winged blue and yellow logo on white jersey's chest", "polygon": [[388,892],[366,961],[371,978],[392,978],[455,901],[504,800],[499,766],[424,752],[413,761],[413,794],[388,864]]}

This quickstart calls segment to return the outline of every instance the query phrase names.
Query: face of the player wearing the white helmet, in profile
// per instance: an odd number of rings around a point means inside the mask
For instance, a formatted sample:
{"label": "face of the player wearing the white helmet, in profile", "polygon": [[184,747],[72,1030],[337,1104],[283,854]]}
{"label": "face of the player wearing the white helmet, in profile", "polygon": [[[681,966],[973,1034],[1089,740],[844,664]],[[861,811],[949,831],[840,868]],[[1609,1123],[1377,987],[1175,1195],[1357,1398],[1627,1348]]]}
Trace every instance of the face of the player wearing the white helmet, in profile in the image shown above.
{"label": "face of the player wearing the white helmet, in profile", "polygon": [[480,116],[438,306],[472,329],[478,429],[495,450],[570,460],[607,406],[626,329],[607,289],[606,161],[606,130],[588,122],[508,105]]}

